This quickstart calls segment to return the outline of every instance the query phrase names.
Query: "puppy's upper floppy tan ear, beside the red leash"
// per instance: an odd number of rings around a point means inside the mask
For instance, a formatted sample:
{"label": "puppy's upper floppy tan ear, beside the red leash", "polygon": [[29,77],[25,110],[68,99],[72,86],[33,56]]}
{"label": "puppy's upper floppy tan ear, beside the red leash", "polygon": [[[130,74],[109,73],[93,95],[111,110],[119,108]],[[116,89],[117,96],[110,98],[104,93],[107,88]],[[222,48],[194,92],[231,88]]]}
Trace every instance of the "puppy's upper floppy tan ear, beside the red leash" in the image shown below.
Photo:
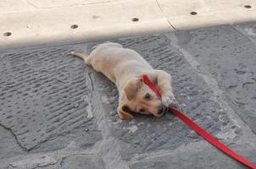
{"label": "puppy's upper floppy tan ear, beside the red leash", "polygon": [[125,84],[125,95],[129,101],[136,96],[137,90],[142,87],[142,78],[131,78]]}

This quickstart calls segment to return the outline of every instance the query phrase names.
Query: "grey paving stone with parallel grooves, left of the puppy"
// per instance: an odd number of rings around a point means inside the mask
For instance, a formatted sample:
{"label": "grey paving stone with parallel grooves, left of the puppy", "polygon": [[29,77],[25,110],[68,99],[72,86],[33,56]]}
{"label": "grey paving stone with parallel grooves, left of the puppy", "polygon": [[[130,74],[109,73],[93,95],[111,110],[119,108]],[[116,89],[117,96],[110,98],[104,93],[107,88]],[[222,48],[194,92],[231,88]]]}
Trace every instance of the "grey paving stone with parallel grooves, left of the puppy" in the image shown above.
{"label": "grey paving stone with parallel grooves, left of the puppy", "polygon": [[101,138],[91,117],[90,79],[71,50],[62,46],[2,53],[0,123],[12,130],[25,150],[47,140],[49,147],[43,150],[63,148],[70,137],[83,136],[83,144]]}

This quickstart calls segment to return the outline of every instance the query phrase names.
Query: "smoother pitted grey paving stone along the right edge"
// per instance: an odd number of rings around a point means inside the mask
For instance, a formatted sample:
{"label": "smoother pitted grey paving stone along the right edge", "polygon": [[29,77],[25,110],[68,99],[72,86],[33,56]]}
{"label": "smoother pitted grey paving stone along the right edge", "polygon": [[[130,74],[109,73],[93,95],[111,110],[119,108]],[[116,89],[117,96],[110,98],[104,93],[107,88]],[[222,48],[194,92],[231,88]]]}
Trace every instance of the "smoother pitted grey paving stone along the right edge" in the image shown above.
{"label": "smoother pitted grey paving stone along the right edge", "polygon": [[[254,24],[255,26],[255,24]],[[253,27],[253,24],[248,24]],[[225,25],[176,33],[182,48],[209,72],[234,111],[256,134],[256,51],[253,41]]]}

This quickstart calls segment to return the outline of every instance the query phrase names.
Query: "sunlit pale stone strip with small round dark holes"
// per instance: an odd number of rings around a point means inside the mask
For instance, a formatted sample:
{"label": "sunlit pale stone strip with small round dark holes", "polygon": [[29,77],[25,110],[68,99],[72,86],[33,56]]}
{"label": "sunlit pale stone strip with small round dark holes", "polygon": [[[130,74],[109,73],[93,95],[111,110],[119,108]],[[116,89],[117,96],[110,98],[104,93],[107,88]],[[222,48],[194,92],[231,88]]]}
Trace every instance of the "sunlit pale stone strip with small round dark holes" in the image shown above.
{"label": "sunlit pale stone strip with small round dark holes", "polygon": [[256,19],[253,0],[12,0],[0,7],[0,48],[96,41]]}

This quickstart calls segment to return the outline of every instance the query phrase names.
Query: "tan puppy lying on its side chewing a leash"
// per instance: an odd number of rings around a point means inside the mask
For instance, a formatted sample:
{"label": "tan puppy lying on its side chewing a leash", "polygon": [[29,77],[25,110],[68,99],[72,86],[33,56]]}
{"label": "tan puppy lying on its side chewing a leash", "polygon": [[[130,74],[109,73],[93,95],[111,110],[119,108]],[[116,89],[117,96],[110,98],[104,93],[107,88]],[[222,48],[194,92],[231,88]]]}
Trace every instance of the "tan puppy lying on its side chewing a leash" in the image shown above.
{"label": "tan puppy lying on its side chewing a leash", "polygon": [[[120,118],[132,119],[130,112],[161,117],[165,107],[175,106],[170,74],[153,69],[137,52],[118,43],[106,42],[94,46],[89,56],[76,52],[71,54],[81,57],[86,65],[92,66],[116,85],[120,94],[117,108]],[[147,74],[158,86],[162,99],[143,83],[142,74]]]}

